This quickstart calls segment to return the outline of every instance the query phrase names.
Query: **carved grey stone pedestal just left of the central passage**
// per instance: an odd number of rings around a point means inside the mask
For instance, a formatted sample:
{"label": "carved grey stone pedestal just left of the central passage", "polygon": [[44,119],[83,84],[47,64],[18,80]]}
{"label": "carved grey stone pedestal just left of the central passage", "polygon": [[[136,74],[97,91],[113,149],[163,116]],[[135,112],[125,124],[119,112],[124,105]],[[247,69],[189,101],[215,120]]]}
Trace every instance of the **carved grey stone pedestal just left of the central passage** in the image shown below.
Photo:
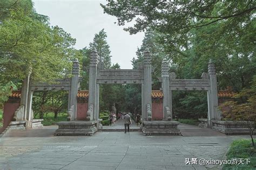
{"label": "carved grey stone pedestal just left of the central passage", "polygon": [[97,131],[97,121],[90,122],[57,122],[59,128],[55,131],[55,136],[92,136]]}

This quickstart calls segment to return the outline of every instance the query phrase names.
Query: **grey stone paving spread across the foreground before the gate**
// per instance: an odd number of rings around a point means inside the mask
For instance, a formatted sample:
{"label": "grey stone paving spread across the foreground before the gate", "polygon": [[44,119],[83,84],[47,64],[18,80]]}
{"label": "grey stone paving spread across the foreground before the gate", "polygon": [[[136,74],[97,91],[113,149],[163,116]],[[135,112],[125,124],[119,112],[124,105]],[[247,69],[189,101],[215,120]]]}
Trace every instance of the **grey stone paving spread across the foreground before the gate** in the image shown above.
{"label": "grey stone paving spread across the foreground before the gate", "polygon": [[0,138],[0,169],[217,169],[185,165],[185,158],[223,159],[234,139],[248,138],[144,136],[136,131],[55,137],[41,132],[39,137]]}

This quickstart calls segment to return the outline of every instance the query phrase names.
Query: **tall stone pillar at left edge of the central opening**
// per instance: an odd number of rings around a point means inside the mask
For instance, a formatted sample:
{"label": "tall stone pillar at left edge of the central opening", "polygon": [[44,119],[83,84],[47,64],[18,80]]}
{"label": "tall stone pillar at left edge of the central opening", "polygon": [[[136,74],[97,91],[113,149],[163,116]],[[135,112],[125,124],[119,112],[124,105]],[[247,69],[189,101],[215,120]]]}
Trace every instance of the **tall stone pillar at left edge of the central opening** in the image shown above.
{"label": "tall stone pillar at left edge of the central opening", "polygon": [[98,52],[94,47],[90,54],[90,70],[89,70],[89,100],[88,107],[91,109],[87,111],[87,120],[92,121],[95,119],[96,114],[96,83],[97,83],[97,65],[98,65]]}

